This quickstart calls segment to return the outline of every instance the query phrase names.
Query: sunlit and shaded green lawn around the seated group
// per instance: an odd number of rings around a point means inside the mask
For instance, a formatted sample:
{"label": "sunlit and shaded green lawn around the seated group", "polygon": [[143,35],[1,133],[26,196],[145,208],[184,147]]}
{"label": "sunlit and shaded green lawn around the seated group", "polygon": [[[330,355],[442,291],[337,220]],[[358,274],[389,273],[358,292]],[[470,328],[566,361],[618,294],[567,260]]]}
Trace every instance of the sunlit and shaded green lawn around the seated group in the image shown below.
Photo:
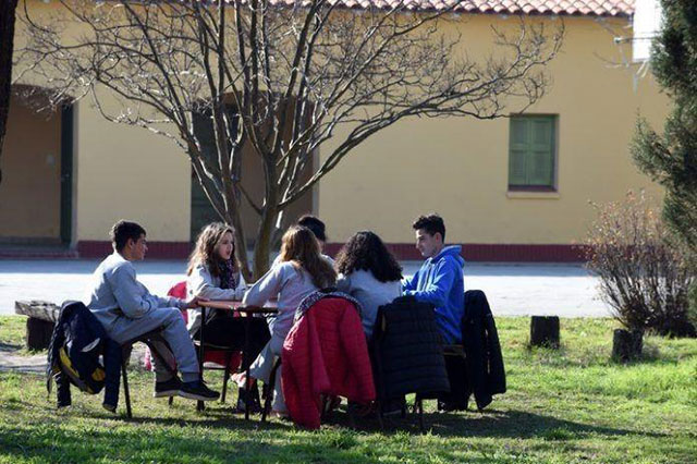
{"label": "sunlit and shaded green lawn around the seated group", "polygon": [[[439,414],[427,402],[425,435],[415,419],[352,429],[343,412],[319,431],[247,423],[230,399],[204,413],[181,399],[170,408],[150,398],[151,376],[137,369],[129,377],[133,420],[123,404],[111,415],[75,389],[73,406],[57,411],[41,377],[0,373],[0,463],[695,462],[697,340],[649,337],[646,358],[623,366],[609,359],[609,319],[563,319],[559,351],[526,347],[528,318],[498,326],[509,391],[482,414]],[[20,344],[22,327],[0,317],[0,341]],[[208,378],[220,387],[218,373]]]}

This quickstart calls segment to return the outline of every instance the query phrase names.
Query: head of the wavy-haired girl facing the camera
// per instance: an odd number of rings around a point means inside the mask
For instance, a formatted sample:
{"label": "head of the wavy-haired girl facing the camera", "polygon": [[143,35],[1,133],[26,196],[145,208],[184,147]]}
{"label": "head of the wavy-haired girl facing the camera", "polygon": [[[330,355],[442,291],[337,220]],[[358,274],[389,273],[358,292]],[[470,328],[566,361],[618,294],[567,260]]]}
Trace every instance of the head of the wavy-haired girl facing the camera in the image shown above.
{"label": "head of the wavy-haired girl facing the camera", "polygon": [[230,225],[222,222],[206,225],[198,234],[188,258],[187,273],[191,274],[199,264],[206,265],[212,276],[218,276],[221,265],[227,261],[232,261],[233,268],[236,268],[234,241],[234,230]]}

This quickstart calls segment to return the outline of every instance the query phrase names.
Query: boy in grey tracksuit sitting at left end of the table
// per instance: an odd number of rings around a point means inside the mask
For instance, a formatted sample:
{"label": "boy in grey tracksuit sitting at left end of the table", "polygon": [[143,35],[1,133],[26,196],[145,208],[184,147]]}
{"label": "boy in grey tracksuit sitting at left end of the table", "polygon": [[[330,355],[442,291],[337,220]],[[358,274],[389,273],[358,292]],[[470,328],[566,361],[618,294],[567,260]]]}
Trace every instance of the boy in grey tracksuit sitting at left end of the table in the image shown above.
{"label": "boy in grey tracksuit sitting at left end of the table", "polygon": [[180,395],[198,401],[216,400],[218,392],[200,380],[194,344],[181,310],[198,307],[199,298],[184,301],[150,294],[136,280],[132,261],[147,252],[145,229],[135,222],[119,221],[111,229],[114,252],[97,267],[85,304],[101,322],[107,334],[124,343],[155,329],[162,329],[180,373],[181,381],[162,366],[156,366],[155,396]]}

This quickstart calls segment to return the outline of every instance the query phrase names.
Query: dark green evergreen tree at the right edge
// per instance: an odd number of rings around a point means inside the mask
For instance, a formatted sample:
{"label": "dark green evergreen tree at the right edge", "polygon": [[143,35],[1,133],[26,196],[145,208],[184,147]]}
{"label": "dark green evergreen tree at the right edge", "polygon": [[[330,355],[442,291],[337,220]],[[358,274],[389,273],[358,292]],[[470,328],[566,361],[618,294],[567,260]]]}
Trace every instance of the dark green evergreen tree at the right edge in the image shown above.
{"label": "dark green evergreen tree at the right edge", "polygon": [[[651,49],[651,70],[673,100],[662,135],[639,119],[632,154],[665,187],[663,216],[697,262],[697,1],[661,0],[663,25]],[[697,288],[690,313],[697,326]]]}

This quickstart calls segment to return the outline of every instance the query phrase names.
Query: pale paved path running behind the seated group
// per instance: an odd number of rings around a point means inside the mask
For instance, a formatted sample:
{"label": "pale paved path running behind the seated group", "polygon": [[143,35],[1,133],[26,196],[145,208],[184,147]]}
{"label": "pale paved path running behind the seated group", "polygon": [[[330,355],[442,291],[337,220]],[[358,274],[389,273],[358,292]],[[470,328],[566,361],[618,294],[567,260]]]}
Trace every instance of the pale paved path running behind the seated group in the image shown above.
{"label": "pale paved path running behind the seated group", "polygon": [[[60,304],[80,300],[88,288],[96,260],[0,261],[0,315],[14,314],[16,300]],[[136,262],[138,279],[155,294],[184,279],[184,261]],[[403,262],[413,274],[419,264]],[[579,265],[467,264],[465,288],[484,290],[494,315],[608,316],[598,297],[598,279]]]}

